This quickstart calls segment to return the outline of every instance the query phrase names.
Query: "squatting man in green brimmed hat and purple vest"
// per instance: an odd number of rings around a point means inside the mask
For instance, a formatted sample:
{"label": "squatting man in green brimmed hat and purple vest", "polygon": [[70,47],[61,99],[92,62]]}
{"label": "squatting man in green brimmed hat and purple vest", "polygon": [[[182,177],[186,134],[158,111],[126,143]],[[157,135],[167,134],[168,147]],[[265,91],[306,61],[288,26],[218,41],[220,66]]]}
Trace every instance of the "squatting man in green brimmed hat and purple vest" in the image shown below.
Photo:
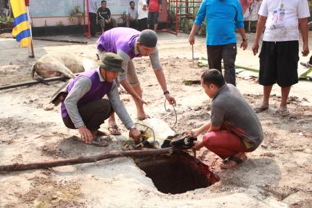
{"label": "squatting man in green brimmed hat and purple vest", "polygon": [[[67,85],[68,95],[61,106],[62,119],[67,128],[78,129],[86,144],[107,146],[103,132],[98,129],[114,111],[130,130],[129,136],[135,141],[139,139],[140,132],[125,110],[114,82],[118,73],[123,72],[122,61],[118,55],[106,53],[98,69],[80,73]],[[102,99],[105,94],[108,100]]]}

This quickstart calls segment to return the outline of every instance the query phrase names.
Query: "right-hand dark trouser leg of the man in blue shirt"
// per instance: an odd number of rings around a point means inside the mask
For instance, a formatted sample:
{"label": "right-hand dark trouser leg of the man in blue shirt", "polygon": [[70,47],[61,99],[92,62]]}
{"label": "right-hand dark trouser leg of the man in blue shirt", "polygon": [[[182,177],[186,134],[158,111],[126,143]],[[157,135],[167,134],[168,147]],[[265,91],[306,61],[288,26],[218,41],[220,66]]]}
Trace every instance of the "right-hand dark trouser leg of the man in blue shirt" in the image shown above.
{"label": "right-hand dark trouser leg of the man in blue shirt", "polygon": [[222,47],[225,82],[236,86],[235,60],[237,54],[236,43],[226,44]]}

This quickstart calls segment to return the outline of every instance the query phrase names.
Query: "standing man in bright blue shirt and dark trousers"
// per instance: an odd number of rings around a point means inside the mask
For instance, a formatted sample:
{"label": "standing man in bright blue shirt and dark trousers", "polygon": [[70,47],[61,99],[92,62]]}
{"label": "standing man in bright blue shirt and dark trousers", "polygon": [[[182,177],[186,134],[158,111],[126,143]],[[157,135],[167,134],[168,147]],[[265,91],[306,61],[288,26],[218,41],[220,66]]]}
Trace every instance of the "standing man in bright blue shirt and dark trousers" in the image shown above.
{"label": "standing man in bright blue shirt and dark trousers", "polygon": [[235,59],[237,49],[235,27],[238,28],[243,39],[241,48],[245,50],[248,46],[241,3],[239,3],[239,0],[203,0],[192,31],[189,34],[190,44],[194,44],[194,35],[205,17],[207,21],[206,44],[209,69],[221,71],[221,60],[223,59],[225,81],[236,85]]}

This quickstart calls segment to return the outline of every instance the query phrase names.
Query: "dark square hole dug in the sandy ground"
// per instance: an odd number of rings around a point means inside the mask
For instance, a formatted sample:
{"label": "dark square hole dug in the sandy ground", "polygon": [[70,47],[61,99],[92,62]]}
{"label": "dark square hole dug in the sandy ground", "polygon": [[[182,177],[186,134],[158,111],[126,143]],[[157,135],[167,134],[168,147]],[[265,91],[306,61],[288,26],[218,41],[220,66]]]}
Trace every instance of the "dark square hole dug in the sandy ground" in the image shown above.
{"label": "dark square hole dug in the sandy ground", "polygon": [[185,193],[209,187],[220,180],[209,166],[185,152],[137,158],[135,162],[162,193]]}

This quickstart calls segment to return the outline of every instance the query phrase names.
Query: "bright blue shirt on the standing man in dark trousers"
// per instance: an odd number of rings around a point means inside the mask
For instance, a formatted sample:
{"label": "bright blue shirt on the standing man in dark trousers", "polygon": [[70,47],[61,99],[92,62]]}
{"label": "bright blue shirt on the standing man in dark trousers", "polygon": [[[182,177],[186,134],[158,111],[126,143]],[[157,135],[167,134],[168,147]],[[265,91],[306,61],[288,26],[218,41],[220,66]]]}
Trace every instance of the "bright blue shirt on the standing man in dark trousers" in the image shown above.
{"label": "bright blue shirt on the standing man in dark trousers", "polygon": [[201,26],[206,18],[206,44],[210,46],[236,43],[236,28],[244,27],[239,0],[203,0],[194,24]]}

